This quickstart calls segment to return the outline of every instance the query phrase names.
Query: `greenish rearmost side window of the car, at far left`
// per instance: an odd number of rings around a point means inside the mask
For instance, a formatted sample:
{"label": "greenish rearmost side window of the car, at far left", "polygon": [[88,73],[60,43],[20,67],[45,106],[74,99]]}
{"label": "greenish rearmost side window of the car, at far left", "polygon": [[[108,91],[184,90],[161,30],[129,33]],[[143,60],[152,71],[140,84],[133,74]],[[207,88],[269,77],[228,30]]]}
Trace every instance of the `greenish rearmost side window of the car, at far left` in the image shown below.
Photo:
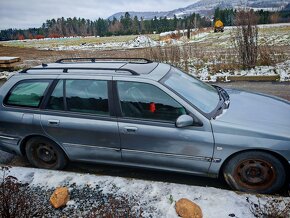
{"label": "greenish rearmost side window of the car, at far left", "polygon": [[12,88],[4,104],[11,106],[38,108],[44,93],[51,81],[27,80],[22,81]]}

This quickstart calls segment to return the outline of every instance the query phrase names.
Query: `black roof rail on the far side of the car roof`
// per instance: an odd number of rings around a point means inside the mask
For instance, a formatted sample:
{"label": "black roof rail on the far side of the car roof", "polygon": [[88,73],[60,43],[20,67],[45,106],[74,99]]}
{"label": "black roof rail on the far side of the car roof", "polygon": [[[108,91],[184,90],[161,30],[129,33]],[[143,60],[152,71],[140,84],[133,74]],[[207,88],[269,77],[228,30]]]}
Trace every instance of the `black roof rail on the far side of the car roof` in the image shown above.
{"label": "black roof rail on the far side of the car roof", "polygon": [[[134,64],[149,64],[153,63],[153,61],[146,59],[146,58],[62,58],[57,60],[55,63],[64,63],[64,62],[78,62],[78,61],[90,61],[95,63],[96,61],[106,60],[106,61],[124,61],[127,63],[134,63]],[[138,62],[139,61],[139,62]],[[140,62],[141,61],[141,62]]]}

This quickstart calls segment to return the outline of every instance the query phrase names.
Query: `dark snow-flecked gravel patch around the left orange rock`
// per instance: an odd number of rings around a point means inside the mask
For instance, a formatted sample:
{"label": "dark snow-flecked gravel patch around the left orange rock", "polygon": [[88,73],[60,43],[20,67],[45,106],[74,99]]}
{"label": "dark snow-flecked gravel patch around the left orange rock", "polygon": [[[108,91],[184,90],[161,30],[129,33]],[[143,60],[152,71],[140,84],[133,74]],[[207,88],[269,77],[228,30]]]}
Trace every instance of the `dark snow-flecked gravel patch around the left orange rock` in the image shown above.
{"label": "dark snow-flecked gravel patch around the left orange rock", "polygon": [[[53,208],[49,203],[55,189],[27,186],[27,184],[17,186],[19,189],[10,189],[11,186],[5,186],[5,190],[11,192],[8,198],[14,199],[12,202],[17,204],[20,213],[28,213],[31,217],[138,217],[142,212],[141,209],[137,209],[138,201],[134,198],[104,194],[98,185],[78,187],[75,184],[64,184],[69,189],[70,200],[66,207],[59,209]],[[21,202],[27,202],[29,207],[28,205],[23,207]]]}

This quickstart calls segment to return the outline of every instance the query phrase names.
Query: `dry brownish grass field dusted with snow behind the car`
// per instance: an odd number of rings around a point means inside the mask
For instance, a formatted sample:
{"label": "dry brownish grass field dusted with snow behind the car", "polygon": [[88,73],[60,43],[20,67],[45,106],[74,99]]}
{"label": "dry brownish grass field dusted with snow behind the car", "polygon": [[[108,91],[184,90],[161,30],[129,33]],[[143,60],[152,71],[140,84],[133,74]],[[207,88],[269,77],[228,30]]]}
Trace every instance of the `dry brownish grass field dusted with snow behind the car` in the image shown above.
{"label": "dry brownish grass field dusted with snow behind the car", "polygon": [[[42,51],[27,47],[37,47],[37,42],[0,42],[0,56],[20,56],[23,60],[21,67],[35,66],[41,63],[54,62],[65,57],[144,57],[155,61],[170,63],[183,68],[185,71],[208,68],[211,74],[232,72],[242,68],[238,61],[237,50],[232,47],[231,29],[224,33],[214,33],[211,29],[203,29],[192,36],[184,45],[168,45],[152,48],[114,49],[114,50],[76,50],[76,51]],[[284,62],[290,56],[290,26],[259,29],[259,49],[257,66],[275,65]],[[260,34],[261,33],[261,34]],[[280,36],[283,36],[282,38]],[[61,43],[80,45],[81,43],[119,42],[136,36],[101,37],[71,39],[63,42],[61,39],[52,42],[42,41],[41,46],[55,46]],[[150,35],[158,40],[159,35]],[[287,38],[288,37],[288,38]],[[280,39],[275,45],[270,45],[264,39]],[[184,40],[181,38],[181,40]],[[64,40],[66,41],[66,40]],[[265,44],[266,42],[266,44]],[[19,44],[18,44],[19,43]],[[46,44],[48,43],[48,44]],[[49,44],[51,43],[51,44]],[[55,43],[55,44],[54,44]],[[13,47],[4,47],[13,45]],[[18,47],[17,47],[18,46]]]}

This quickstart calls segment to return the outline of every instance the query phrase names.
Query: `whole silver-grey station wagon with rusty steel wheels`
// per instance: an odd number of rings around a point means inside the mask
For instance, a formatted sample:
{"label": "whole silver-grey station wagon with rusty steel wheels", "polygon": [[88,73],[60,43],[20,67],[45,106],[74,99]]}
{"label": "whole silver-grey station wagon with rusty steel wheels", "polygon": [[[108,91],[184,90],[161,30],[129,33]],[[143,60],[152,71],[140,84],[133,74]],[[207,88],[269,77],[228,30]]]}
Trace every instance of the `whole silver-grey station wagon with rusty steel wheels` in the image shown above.
{"label": "whole silver-grey station wagon with rusty steel wheels", "polygon": [[0,101],[0,149],[36,167],[146,167],[258,193],[287,184],[290,102],[211,86],[168,64],[61,59],[12,76]]}

